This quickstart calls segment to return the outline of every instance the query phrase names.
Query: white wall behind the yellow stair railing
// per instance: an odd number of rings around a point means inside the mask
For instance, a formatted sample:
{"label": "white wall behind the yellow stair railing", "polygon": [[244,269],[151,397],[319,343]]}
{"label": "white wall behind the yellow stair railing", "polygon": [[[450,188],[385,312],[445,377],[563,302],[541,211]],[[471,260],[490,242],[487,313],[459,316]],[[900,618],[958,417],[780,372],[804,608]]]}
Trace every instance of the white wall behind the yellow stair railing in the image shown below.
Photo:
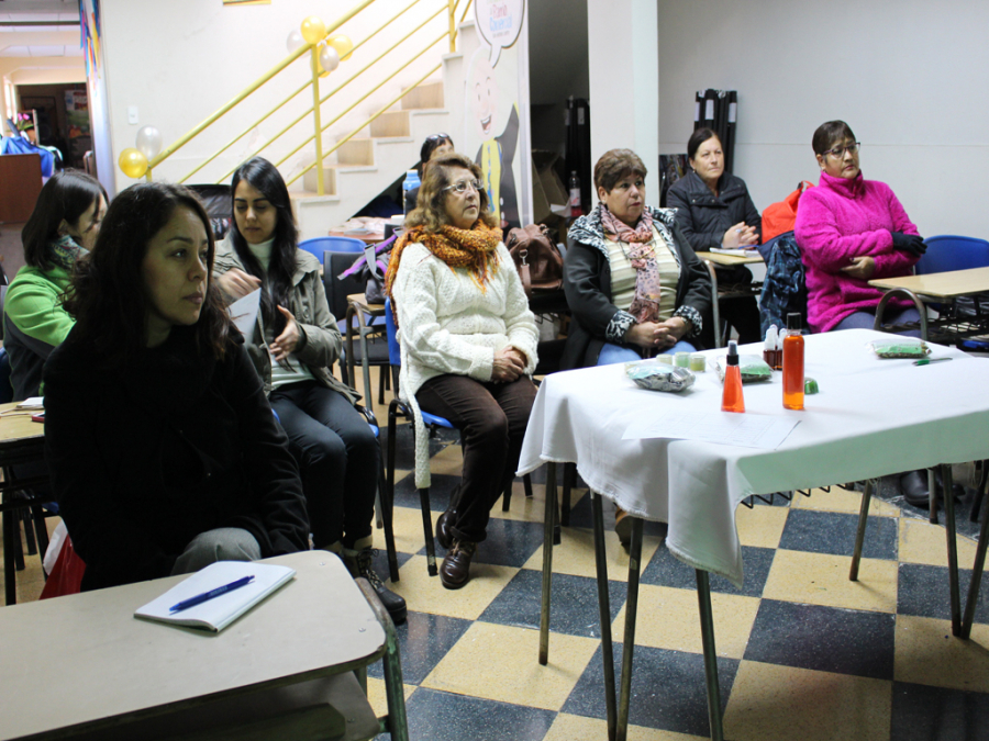
{"label": "white wall behind the yellow stair railing", "polygon": [[[168,0],[167,3],[102,0],[100,9],[114,161],[122,149],[134,146],[134,138],[141,126],[156,126],[168,145],[234,98],[288,54],[286,37],[290,31],[299,27],[304,18],[319,13],[330,25],[355,4],[356,0],[275,0],[269,5],[225,7],[219,0]],[[340,33],[347,34],[356,44],[407,4],[407,0],[378,0],[348,21]],[[445,5],[441,0],[416,3],[399,21],[355,52],[351,59],[341,63],[335,72],[323,78],[320,81],[321,94],[325,96],[432,12]],[[446,27],[446,15],[441,13],[380,64],[388,65],[390,69],[398,68],[424,46],[427,40],[435,38]],[[349,133],[362,116],[366,119],[438,64],[440,54],[448,48],[448,41],[444,40],[434,52],[423,55],[403,69],[331,130],[333,135]],[[246,127],[308,79],[311,75],[309,69],[309,58],[304,56],[280,72],[274,83],[234,109],[231,115],[242,127]],[[323,124],[370,90],[378,80],[380,75],[374,77],[373,71],[366,72],[357,78],[349,91],[332,98],[323,105]],[[215,181],[253,153],[254,145],[259,146],[311,103],[311,92],[300,93],[286,111],[275,114],[249,132],[227,154],[207,166],[190,182]],[[127,121],[130,106],[137,109],[137,123],[131,124]],[[177,180],[225,144],[232,138],[232,132],[221,124],[222,120],[157,168],[155,179]],[[286,135],[286,144],[276,144],[262,155],[274,161],[312,134],[312,131],[310,115]],[[332,141],[333,136],[324,135],[324,147]],[[302,162],[308,164],[312,158],[313,149],[310,145],[280,168],[282,175],[298,172]],[[126,188],[133,182],[115,166],[114,171],[118,189]]]}

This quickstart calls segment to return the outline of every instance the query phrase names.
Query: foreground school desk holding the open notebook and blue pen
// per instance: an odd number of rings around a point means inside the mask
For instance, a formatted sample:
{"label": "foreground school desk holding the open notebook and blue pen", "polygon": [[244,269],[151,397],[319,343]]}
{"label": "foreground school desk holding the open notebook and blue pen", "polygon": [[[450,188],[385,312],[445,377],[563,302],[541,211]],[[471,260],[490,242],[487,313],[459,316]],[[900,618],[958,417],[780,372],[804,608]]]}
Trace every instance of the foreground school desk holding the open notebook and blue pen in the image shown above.
{"label": "foreground school desk holding the open notebook and blue pen", "polygon": [[[293,568],[296,579],[220,633],[134,617],[137,607],[185,576],[0,609],[0,739],[220,738],[222,729],[182,729],[173,721],[189,714],[197,723],[215,723],[222,708],[238,725],[270,722],[285,712],[285,701],[296,705],[289,709],[297,715],[300,707],[327,707],[325,696],[320,698],[321,682],[382,655],[387,726],[392,738],[408,739],[401,667],[387,613],[380,620],[332,553],[308,551],[269,562]],[[353,675],[347,677],[356,685]],[[309,693],[301,705],[298,695],[290,696],[292,687]],[[237,698],[242,701],[232,707]],[[346,719],[346,738],[388,730],[373,712],[368,721],[367,712],[348,709]],[[236,736],[244,737],[256,738]]]}

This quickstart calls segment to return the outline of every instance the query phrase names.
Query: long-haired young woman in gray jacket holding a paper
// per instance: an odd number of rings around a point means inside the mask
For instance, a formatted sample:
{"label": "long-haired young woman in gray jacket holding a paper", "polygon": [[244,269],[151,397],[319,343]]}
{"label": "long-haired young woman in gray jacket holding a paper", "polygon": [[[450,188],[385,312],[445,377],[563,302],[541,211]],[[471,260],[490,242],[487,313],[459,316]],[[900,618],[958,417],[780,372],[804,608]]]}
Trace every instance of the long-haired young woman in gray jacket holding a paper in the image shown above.
{"label": "long-haired young woman in gray jacket holding a paper", "polygon": [[395,622],[405,600],[374,571],[371,519],[378,445],[354,408],[356,395],[330,373],[341,337],[315,257],[300,250],[288,189],[255,157],[234,172],[234,223],[216,249],[216,282],[233,300],[260,289],[247,352],[299,462],[315,548],[338,553],[376,588]]}

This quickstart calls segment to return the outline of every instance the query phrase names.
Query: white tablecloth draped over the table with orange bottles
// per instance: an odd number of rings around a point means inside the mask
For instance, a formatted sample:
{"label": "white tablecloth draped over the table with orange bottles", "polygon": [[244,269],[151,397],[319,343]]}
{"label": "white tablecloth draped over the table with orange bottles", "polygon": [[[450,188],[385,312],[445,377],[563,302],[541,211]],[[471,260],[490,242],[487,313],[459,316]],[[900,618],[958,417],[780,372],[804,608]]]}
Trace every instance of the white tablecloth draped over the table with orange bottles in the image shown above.
{"label": "white tablecloth draped over the table with orange bottles", "polygon": [[[669,523],[666,543],[677,558],[741,586],[735,508],[745,497],[989,458],[989,361],[936,345],[932,357],[954,359],[921,367],[880,360],[867,347],[877,338],[890,335],[808,336],[805,374],[821,392],[807,396],[802,412],[782,407],[780,373],[745,386],[746,414],[801,420],[777,450],[622,439],[641,415],[720,409],[713,370],[681,394],[638,389],[621,364],[554,373],[540,386],[519,473],[546,461],[576,462],[593,491]],[[741,352],[762,356],[762,346]]]}

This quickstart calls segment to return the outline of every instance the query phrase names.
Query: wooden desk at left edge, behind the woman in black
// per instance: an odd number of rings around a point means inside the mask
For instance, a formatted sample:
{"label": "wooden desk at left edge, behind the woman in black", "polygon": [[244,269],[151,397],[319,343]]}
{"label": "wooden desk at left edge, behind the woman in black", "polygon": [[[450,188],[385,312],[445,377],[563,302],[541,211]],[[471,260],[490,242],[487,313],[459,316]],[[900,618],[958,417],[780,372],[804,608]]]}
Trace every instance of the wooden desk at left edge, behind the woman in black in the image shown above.
{"label": "wooden desk at left edge, behind the woman in black", "polygon": [[[0,483],[0,513],[3,516],[3,577],[8,605],[18,600],[16,570],[23,569],[23,555],[18,550],[21,539],[16,528],[25,507],[34,514],[37,547],[44,550],[48,546],[48,534],[44,529],[41,502],[30,492],[31,486],[47,483],[47,475],[33,479],[16,479],[12,465],[36,463],[45,459],[45,426],[33,422],[32,414],[37,412],[16,412],[16,403],[0,405],[0,468],[3,469],[3,482]],[[19,498],[11,494],[19,492]],[[31,551],[29,542],[29,551]]]}

